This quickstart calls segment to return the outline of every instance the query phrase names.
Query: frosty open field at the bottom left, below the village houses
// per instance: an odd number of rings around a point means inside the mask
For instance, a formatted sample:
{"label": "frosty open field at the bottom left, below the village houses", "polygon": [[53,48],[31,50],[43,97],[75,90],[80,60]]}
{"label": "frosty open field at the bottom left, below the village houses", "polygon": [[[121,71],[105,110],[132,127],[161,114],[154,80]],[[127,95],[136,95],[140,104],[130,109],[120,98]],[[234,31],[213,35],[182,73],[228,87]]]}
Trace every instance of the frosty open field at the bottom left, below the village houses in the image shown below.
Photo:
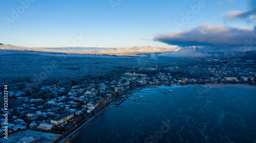
{"label": "frosty open field at the bottom left, below the village houses", "polygon": [[25,131],[18,131],[12,133],[8,136],[8,139],[4,137],[0,138],[0,143],[15,143],[19,141],[20,138],[32,136],[36,139],[36,142],[40,143],[50,143],[53,140],[57,139],[60,135],[54,133],[47,133],[41,131],[34,131],[34,130],[25,130]]}

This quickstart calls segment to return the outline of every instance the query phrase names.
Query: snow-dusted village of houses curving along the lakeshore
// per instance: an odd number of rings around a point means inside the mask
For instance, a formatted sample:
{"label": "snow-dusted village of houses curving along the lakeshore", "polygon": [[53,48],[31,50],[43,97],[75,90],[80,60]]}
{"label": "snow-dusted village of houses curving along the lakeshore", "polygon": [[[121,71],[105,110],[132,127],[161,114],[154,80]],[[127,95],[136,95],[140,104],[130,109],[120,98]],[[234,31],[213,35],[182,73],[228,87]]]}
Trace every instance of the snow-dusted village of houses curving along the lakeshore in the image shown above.
{"label": "snow-dusted village of houses curving along the lakeshore", "polygon": [[[205,62],[215,62],[207,60]],[[253,66],[253,64],[251,64]],[[127,71],[119,79],[94,84],[73,85],[67,90],[57,85],[40,88],[40,93],[52,93],[48,99],[32,98],[25,92],[8,91],[9,100],[16,100],[19,104],[10,106],[8,132],[9,134],[27,129],[47,131],[63,134],[76,128],[79,123],[95,115],[106,105],[118,102],[126,97],[124,91],[142,86],[184,85],[203,83],[251,83],[255,84],[256,72],[250,66],[234,63],[201,64],[186,67],[140,67]],[[188,70],[189,69],[189,70]],[[182,70],[191,71],[190,77],[182,75]],[[149,71],[155,71],[156,74]],[[195,78],[193,71],[203,71],[204,75]],[[146,74],[147,73],[147,74]],[[175,73],[175,75],[174,75]],[[210,73],[210,74],[207,74]],[[3,93],[2,93],[3,94]],[[5,109],[2,107],[2,111]],[[5,118],[1,119],[0,135],[4,136]],[[34,141],[35,138],[23,138]]]}

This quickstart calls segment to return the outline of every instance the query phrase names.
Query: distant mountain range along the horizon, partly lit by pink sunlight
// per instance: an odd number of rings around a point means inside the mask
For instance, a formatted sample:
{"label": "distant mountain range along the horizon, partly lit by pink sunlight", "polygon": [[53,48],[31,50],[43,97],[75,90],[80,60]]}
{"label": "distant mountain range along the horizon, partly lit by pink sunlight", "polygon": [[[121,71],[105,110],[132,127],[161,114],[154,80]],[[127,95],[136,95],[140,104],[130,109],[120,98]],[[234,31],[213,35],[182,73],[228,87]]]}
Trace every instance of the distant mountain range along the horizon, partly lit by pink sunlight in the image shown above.
{"label": "distant mountain range along the horizon, partly lit by pink sunlight", "polygon": [[[93,49],[93,50],[88,50]],[[99,50],[98,50],[99,49]],[[187,51],[186,51],[187,50]],[[31,47],[22,47],[22,46],[13,46],[0,43],[0,54],[5,53],[33,53],[33,54],[99,54],[99,55],[144,55],[151,53],[164,53],[160,54],[163,56],[174,56],[174,54],[178,54],[178,56],[184,56],[186,52],[189,52],[189,56],[198,56],[198,53],[204,53],[206,56],[215,56],[216,53],[219,55],[219,58],[228,58],[228,59],[248,59],[248,60],[256,60],[256,51],[245,51],[239,52],[236,54],[225,55],[225,52],[198,52],[193,48],[180,48],[180,47],[151,47],[151,46],[134,46],[129,48],[91,48],[91,47],[64,47],[64,48],[31,48]],[[207,53],[207,54],[206,54]],[[168,55],[170,54],[170,55]]]}

